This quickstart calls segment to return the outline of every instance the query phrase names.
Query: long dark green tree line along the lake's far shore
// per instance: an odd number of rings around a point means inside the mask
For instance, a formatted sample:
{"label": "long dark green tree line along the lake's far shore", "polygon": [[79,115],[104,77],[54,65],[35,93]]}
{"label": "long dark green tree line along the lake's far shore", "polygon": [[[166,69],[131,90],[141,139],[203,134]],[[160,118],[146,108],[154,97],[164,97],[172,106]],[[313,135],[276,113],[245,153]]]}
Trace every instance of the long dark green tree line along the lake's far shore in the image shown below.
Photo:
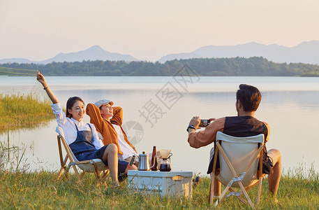
{"label": "long dark green tree line along the lake's far shore", "polygon": [[30,69],[41,71],[46,76],[174,76],[185,65],[199,76],[319,76],[318,65],[278,64],[264,57],[174,59],[165,63],[109,60],[50,64],[7,63],[0,64],[0,74],[17,75],[22,71],[15,69]]}

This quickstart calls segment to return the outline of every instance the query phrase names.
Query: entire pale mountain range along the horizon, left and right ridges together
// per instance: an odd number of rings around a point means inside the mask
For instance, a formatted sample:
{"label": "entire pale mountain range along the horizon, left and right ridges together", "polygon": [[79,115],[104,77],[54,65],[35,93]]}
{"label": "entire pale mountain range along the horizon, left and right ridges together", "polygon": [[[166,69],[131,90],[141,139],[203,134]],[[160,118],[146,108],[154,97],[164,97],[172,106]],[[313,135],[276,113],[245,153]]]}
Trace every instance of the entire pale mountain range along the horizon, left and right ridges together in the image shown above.
{"label": "entire pale mountain range along the horizon, left and right ridges together", "polygon": [[[265,57],[276,63],[319,63],[319,41],[302,42],[299,45],[288,48],[282,45],[263,45],[260,43],[245,43],[242,45],[209,45],[198,48],[192,52],[182,52],[165,55],[158,62],[166,62],[172,59],[191,58],[216,58],[216,57]],[[8,62],[48,64],[51,62],[82,62],[83,60],[124,60],[126,62],[137,61],[131,55],[107,52],[95,45],[87,50],[71,53],[59,53],[55,57],[40,62],[32,62],[28,59],[0,59],[0,64]]]}

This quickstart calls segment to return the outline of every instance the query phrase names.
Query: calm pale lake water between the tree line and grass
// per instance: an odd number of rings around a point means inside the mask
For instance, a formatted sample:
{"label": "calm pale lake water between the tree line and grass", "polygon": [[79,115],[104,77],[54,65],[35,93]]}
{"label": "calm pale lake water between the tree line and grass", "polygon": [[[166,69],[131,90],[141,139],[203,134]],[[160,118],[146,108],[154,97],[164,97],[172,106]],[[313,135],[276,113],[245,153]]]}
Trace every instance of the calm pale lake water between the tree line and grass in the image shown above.
{"label": "calm pale lake water between the tree line and grass", "polygon": [[[311,164],[318,172],[319,78],[295,77],[57,77],[47,83],[65,107],[68,97],[80,96],[85,103],[110,99],[124,109],[124,127],[138,153],[152,147],[172,149],[174,170],[206,174],[212,146],[188,145],[186,127],[193,116],[235,116],[235,92],[239,84],[255,85],[262,102],[255,118],[271,127],[268,150],[282,154],[283,169]],[[36,77],[0,76],[1,93],[38,94],[45,98]],[[84,118],[89,122],[89,117]],[[57,170],[59,155],[57,123],[33,130],[9,131],[10,146],[27,148],[24,155],[31,169]],[[0,135],[7,144],[8,134]]]}

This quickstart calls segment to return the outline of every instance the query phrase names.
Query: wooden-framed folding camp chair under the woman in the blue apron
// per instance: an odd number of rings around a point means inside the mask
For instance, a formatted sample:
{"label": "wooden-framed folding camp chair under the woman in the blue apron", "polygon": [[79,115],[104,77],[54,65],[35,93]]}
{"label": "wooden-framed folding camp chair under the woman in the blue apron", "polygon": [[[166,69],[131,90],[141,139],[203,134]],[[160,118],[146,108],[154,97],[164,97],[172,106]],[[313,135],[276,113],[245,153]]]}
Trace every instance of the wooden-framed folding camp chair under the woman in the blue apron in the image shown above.
{"label": "wooden-framed folding camp chair under the woman in the blue apron", "polygon": [[[94,175],[96,176],[96,179],[98,180],[106,178],[107,174],[109,174],[109,170],[108,170],[108,167],[104,165],[101,159],[78,161],[77,158],[75,158],[75,155],[73,154],[73,152],[71,151],[71,148],[66,143],[66,139],[64,139],[64,132],[62,128],[58,126],[55,131],[58,133],[57,140],[58,140],[59,155],[60,155],[60,162],[61,162],[61,169],[57,177],[58,181],[64,170],[65,170],[64,172],[65,176],[66,177],[68,176],[68,171],[70,167],[73,167],[74,172],[79,181],[82,179],[82,177],[84,176],[86,172],[94,173]],[[66,151],[65,158],[63,158],[63,154],[62,154],[61,142]],[[66,165],[66,162],[68,162],[68,165]],[[79,167],[80,169],[82,169],[83,172],[81,174],[79,174],[79,172],[77,171],[77,167],[75,167],[75,165]],[[101,176],[102,172],[103,172],[103,176]]]}

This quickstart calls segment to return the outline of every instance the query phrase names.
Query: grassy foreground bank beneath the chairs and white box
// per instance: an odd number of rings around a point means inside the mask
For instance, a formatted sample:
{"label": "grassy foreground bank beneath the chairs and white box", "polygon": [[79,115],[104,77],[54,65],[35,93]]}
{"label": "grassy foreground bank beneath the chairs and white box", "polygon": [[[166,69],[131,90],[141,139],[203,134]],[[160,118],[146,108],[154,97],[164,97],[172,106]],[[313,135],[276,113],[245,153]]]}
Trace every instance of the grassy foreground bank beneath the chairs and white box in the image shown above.
{"label": "grassy foreground bank beneath the chairs and white box", "polygon": [[[319,176],[313,171],[302,174],[299,169],[282,176],[277,203],[268,199],[267,179],[262,183],[262,201],[256,209],[318,209]],[[90,175],[90,176],[87,176]],[[72,175],[63,183],[57,183],[55,172],[2,172],[0,174],[0,209],[212,209],[207,202],[209,179],[193,188],[191,200],[183,197],[159,197],[136,193],[128,189],[98,185],[93,174],[84,176],[82,183]],[[253,202],[257,189],[248,193]],[[128,193],[129,192],[129,193]],[[249,209],[234,197],[221,203],[218,209]]]}

